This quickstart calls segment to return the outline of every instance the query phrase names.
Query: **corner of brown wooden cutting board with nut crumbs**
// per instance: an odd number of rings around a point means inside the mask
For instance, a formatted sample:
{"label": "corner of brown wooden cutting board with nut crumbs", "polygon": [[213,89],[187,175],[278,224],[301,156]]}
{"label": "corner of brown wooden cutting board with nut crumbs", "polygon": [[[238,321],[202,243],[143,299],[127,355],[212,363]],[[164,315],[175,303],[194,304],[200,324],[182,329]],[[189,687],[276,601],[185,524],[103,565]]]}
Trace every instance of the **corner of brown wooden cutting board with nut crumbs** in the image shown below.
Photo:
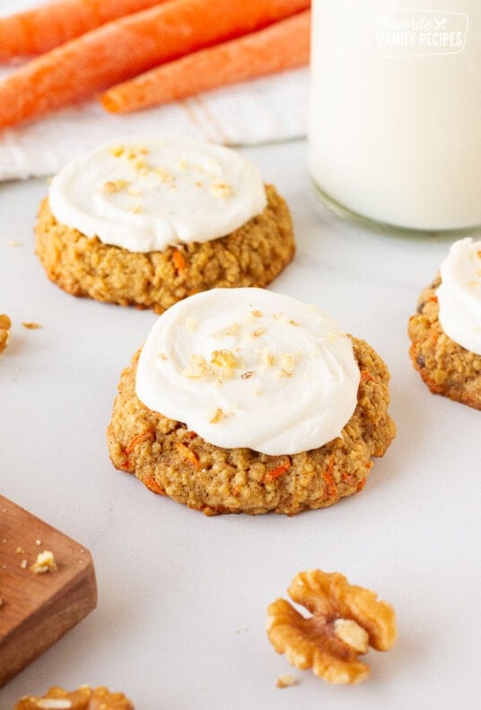
{"label": "corner of brown wooden cutting board with nut crumbs", "polygon": [[[57,569],[31,569],[39,553]],[[97,604],[92,556],[0,495],[0,688]]]}

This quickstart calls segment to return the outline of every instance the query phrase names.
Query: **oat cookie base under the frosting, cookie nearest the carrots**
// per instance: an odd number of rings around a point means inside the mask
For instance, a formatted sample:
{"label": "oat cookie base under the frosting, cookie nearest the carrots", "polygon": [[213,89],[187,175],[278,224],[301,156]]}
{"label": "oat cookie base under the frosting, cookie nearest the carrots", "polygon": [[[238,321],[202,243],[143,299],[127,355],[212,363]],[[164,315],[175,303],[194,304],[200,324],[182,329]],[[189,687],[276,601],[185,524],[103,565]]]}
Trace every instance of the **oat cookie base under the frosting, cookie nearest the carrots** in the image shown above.
{"label": "oat cookie base under the frosting, cookie nearest the carrots", "polygon": [[232,234],[163,252],[133,253],[65,226],[43,200],[36,251],[48,278],[74,296],[162,313],[214,287],[264,287],[293,258],[293,226],[284,200],[266,186],[267,207]]}

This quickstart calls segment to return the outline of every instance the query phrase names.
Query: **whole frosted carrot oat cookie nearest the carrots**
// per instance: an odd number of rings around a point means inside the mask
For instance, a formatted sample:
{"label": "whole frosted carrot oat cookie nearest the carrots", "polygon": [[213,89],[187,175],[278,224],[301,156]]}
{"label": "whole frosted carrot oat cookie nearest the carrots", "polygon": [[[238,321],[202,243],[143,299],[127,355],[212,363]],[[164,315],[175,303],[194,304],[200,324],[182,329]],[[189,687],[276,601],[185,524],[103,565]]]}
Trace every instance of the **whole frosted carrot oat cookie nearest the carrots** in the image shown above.
{"label": "whole frosted carrot oat cookie nearest the carrots", "polygon": [[35,228],[74,296],[162,313],[214,287],[264,287],[295,250],[284,200],[224,146],[161,136],[101,146],[58,173]]}

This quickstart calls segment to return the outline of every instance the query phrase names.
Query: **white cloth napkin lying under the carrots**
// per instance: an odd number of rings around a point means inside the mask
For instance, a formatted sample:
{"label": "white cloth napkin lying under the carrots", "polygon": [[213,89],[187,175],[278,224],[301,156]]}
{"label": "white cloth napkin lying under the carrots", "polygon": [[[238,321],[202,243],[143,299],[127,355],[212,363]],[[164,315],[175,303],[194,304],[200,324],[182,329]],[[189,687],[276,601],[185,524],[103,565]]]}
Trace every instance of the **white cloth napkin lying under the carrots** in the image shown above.
{"label": "white cloth napkin lying under the carrots", "polygon": [[[34,4],[0,0],[0,14]],[[57,173],[75,155],[133,134],[175,131],[232,146],[302,138],[308,85],[304,67],[123,116],[83,102],[0,132],[0,180]]]}

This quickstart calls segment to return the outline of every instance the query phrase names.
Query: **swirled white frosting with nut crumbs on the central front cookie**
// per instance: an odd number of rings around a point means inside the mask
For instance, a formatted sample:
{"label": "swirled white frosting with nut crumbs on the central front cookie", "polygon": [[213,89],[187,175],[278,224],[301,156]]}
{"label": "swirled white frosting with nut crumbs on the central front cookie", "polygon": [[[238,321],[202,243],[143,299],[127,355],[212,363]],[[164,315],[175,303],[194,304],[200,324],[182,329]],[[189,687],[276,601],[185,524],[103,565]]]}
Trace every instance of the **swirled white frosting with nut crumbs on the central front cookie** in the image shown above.
{"label": "swirled white frosting with nut crumbs on the central front cookie", "polygon": [[136,394],[215,446],[275,456],[340,436],[359,381],[352,342],[317,306],[262,288],[213,288],[153,325]]}

